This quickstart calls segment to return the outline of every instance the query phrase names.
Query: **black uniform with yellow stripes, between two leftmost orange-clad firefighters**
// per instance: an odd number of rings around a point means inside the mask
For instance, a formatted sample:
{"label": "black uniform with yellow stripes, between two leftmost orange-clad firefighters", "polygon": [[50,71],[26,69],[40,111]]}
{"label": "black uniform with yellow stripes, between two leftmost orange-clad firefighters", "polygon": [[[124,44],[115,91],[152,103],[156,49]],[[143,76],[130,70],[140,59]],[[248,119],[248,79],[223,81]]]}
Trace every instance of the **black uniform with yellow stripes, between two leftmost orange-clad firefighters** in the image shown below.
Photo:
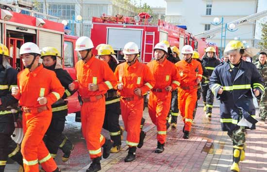
{"label": "black uniform with yellow stripes, between two leftmost orange-clad firefighters", "polygon": [[67,116],[67,97],[74,94],[75,91],[70,91],[68,85],[73,82],[73,79],[64,69],[55,69],[55,65],[47,67],[47,69],[53,70],[56,73],[62,86],[65,87],[65,93],[60,100],[52,104],[52,120],[50,126],[46,132],[45,144],[52,157],[55,157],[58,148],[63,153],[67,153],[72,149],[72,144],[65,135],[62,134],[65,127],[65,121]]}

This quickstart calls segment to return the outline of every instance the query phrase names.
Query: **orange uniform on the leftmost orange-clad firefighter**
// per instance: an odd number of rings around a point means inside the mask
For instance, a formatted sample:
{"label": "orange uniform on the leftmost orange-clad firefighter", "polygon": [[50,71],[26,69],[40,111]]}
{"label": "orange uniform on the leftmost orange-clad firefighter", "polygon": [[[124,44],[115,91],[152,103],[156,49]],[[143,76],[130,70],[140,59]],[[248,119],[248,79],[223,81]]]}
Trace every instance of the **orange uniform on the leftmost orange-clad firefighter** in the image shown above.
{"label": "orange uniform on the leftmost orange-clad firefighter", "polygon": [[[32,72],[29,69],[17,75],[17,86],[20,93],[14,96],[23,110],[24,138],[21,143],[23,166],[25,172],[39,172],[39,164],[46,172],[53,172],[57,165],[43,141],[52,119],[51,104],[64,94],[54,71],[38,66]],[[46,97],[47,104],[40,105],[38,97]],[[47,110],[44,110],[47,107]],[[43,110],[40,110],[43,108]],[[26,112],[25,109],[28,109]]]}

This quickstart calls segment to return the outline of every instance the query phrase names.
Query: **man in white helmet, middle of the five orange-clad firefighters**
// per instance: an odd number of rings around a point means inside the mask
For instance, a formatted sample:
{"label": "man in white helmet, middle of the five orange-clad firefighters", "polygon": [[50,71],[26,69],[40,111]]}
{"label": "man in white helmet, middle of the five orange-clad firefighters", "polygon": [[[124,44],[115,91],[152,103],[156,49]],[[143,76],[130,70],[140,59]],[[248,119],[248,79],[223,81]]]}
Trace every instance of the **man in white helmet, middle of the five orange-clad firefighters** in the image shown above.
{"label": "man in white helmet, middle of the five orange-clad firefighters", "polygon": [[136,146],[139,143],[140,123],[143,116],[143,94],[155,85],[155,79],[147,65],[136,60],[138,46],[128,42],[123,49],[126,62],[115,70],[118,93],[120,94],[121,116],[127,131],[126,144],[129,146],[125,162],[135,159]]}

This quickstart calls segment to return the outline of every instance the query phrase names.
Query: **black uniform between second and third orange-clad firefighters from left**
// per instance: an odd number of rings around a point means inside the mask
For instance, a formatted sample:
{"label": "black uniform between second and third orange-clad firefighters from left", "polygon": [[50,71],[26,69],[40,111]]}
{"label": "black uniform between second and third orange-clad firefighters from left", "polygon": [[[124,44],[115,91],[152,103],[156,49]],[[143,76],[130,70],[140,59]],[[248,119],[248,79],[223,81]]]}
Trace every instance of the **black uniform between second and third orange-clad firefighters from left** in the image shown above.
{"label": "black uniform between second and third orange-clad firefighters from left", "polygon": [[[108,65],[112,71],[115,71],[117,62],[110,59]],[[103,128],[109,131],[110,138],[113,140],[113,147],[121,145],[121,131],[119,126],[120,98],[117,96],[117,90],[109,89],[105,94],[106,111]]]}

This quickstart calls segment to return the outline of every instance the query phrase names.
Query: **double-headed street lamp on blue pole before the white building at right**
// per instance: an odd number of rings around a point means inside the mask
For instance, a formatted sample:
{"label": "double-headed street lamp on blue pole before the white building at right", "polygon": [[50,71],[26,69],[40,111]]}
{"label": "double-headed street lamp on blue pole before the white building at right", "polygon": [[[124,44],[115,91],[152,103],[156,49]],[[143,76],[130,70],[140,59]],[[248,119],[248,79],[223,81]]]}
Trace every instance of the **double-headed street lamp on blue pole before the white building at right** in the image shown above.
{"label": "double-headed street lamp on blue pole before the white building at right", "polygon": [[228,25],[227,23],[225,23],[225,31],[224,31],[224,35],[223,35],[223,26],[224,26],[224,23],[223,23],[223,17],[221,17],[221,21],[218,17],[215,17],[213,19],[213,22],[211,22],[212,25],[214,26],[218,26],[221,24],[221,45],[220,45],[220,56],[219,58],[221,58],[221,52],[222,52],[222,38],[224,37],[224,47],[225,47],[225,38],[226,38],[226,31],[230,31],[230,32],[235,32],[237,31],[237,29],[234,30],[235,28],[235,24],[234,23],[231,23],[229,25],[229,28],[228,28]]}

